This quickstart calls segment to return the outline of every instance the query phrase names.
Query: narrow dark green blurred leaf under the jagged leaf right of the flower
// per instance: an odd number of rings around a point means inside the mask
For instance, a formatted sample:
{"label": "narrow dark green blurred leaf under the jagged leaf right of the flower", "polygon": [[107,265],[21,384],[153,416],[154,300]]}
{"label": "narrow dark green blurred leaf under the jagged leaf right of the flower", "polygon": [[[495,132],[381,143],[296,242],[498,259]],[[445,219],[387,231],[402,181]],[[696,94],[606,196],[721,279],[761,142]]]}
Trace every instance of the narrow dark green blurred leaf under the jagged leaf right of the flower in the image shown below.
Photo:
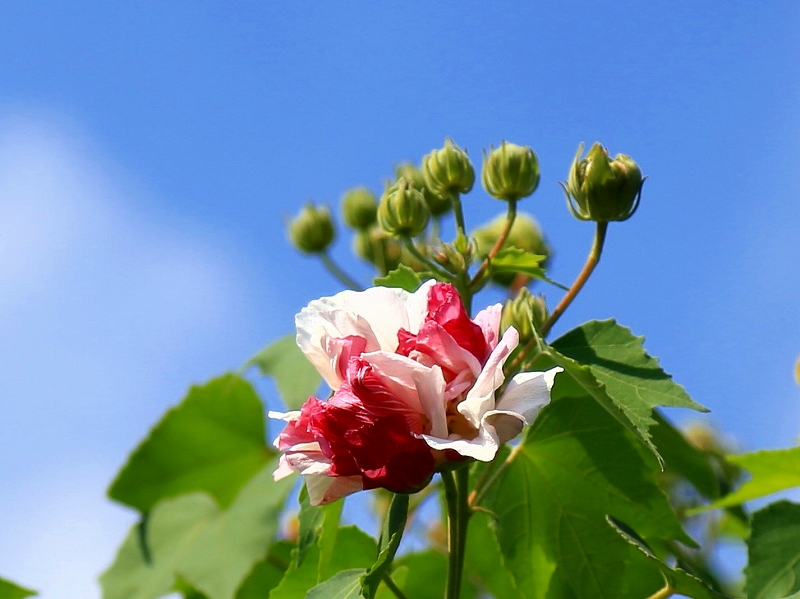
{"label": "narrow dark green blurred leaf under the jagged leaf right of the flower", "polygon": [[689,443],[683,433],[657,410],[653,412],[653,418],[656,423],[650,434],[664,458],[667,474],[686,479],[707,499],[719,497],[719,478],[708,455]]}

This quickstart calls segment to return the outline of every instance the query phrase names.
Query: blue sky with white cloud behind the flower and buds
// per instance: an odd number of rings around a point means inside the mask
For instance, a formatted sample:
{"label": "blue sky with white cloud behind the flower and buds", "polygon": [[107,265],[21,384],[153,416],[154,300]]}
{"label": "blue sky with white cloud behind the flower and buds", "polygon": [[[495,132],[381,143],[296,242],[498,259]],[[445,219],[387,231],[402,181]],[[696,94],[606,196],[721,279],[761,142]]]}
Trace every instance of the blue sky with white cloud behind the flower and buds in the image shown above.
{"label": "blue sky with white cloud behind the flower and buds", "polygon": [[577,144],[633,156],[641,207],[555,333],[614,316],[738,448],[795,444],[799,33],[792,1],[0,5],[0,575],[97,597],[128,452],[339,290],[285,217],[445,136],[536,150],[562,282]]}

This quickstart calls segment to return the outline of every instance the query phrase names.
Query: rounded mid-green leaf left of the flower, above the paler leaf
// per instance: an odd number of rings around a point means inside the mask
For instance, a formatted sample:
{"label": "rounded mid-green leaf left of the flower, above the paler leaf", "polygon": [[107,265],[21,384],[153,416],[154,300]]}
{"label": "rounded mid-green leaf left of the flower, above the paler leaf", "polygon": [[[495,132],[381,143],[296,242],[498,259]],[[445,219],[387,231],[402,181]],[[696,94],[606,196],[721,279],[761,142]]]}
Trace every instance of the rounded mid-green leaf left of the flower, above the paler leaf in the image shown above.
{"label": "rounded mid-green leaf left of the flower, above the paler leaf", "polygon": [[194,386],[128,458],[108,495],[148,512],[161,499],[205,491],[224,506],[273,455],[264,407],[235,374]]}

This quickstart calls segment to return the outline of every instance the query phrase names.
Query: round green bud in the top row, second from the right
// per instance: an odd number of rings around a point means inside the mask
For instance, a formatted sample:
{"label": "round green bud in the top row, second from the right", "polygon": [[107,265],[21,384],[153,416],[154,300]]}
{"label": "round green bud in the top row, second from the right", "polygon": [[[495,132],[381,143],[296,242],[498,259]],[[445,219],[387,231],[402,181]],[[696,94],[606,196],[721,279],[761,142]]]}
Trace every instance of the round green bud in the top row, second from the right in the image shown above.
{"label": "round green bud in the top row, second from the right", "polygon": [[528,146],[503,142],[483,152],[483,187],[498,200],[519,200],[539,186],[539,159]]}

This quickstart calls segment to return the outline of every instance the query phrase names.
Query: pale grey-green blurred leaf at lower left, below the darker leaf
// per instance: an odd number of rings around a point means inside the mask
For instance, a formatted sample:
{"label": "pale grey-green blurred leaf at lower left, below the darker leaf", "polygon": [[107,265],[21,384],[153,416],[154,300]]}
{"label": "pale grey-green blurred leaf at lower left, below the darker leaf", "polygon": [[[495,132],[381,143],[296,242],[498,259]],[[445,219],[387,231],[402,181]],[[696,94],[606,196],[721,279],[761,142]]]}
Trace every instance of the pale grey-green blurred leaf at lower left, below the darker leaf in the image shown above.
{"label": "pale grey-green blurred leaf at lower left, below the darker leaf", "polygon": [[232,599],[266,555],[293,481],[272,480],[275,458],[222,511],[205,493],[160,501],[150,512],[142,554],[134,527],[100,577],[105,599],[155,599],[180,577],[209,599]]}

